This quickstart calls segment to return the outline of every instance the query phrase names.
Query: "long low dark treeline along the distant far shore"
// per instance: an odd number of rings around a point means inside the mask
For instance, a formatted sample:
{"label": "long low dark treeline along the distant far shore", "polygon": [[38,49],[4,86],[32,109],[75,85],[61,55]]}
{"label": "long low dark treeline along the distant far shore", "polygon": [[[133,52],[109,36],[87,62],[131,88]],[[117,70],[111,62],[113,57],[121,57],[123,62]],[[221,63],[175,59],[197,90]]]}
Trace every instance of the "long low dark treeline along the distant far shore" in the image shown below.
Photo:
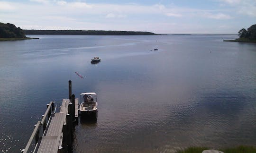
{"label": "long low dark treeline along the distant far shore", "polygon": [[103,31],[103,30],[24,30],[25,34],[53,35],[154,35],[140,31]]}

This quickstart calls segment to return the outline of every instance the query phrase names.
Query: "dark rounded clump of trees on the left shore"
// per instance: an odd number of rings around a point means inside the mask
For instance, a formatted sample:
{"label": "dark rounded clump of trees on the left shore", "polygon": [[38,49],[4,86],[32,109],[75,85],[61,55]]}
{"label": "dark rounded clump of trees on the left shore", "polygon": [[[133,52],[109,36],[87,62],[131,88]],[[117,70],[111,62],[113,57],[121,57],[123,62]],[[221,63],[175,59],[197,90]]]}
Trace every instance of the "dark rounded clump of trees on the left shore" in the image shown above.
{"label": "dark rounded clump of trees on the left shore", "polygon": [[20,27],[0,22],[0,38],[26,38],[26,35]]}

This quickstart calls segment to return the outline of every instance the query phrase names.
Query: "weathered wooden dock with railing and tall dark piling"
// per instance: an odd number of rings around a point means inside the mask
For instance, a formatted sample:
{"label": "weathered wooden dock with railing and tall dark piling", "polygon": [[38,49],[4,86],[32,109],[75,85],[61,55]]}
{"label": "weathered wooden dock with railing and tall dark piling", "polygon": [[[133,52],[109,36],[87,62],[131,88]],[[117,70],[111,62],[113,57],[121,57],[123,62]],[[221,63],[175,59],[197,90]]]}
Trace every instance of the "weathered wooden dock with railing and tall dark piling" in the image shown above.
{"label": "weathered wooden dock with railing and tall dark piling", "polygon": [[60,112],[55,112],[55,102],[47,104],[47,110],[38,121],[23,153],[67,153],[72,148],[73,127],[78,121],[78,98],[71,95],[63,99]]}

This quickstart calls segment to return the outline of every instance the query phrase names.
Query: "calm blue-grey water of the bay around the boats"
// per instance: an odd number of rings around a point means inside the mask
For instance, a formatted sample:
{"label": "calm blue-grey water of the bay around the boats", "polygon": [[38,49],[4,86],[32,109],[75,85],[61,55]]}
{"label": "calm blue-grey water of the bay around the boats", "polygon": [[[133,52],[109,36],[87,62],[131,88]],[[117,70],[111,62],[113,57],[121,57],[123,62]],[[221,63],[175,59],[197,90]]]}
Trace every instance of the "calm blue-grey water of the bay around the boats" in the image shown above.
{"label": "calm blue-grey water of the bay around the boats", "polygon": [[[33,37],[0,42],[0,152],[25,148],[46,104],[68,98],[70,79],[77,98],[96,92],[99,103],[97,123],[76,126],[74,153],[256,146],[255,43],[206,34]],[[91,64],[94,56],[102,61]]]}

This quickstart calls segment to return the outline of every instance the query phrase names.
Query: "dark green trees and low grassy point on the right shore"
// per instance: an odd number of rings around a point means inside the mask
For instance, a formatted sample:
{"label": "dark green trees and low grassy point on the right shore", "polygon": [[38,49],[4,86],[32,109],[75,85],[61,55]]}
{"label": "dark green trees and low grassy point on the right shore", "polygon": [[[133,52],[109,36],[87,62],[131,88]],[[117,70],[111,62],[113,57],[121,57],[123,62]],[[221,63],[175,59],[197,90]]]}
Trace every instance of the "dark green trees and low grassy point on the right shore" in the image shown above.
{"label": "dark green trees and low grassy point on the right shore", "polygon": [[256,25],[250,26],[247,30],[238,31],[239,38],[235,40],[223,40],[223,42],[256,42]]}

